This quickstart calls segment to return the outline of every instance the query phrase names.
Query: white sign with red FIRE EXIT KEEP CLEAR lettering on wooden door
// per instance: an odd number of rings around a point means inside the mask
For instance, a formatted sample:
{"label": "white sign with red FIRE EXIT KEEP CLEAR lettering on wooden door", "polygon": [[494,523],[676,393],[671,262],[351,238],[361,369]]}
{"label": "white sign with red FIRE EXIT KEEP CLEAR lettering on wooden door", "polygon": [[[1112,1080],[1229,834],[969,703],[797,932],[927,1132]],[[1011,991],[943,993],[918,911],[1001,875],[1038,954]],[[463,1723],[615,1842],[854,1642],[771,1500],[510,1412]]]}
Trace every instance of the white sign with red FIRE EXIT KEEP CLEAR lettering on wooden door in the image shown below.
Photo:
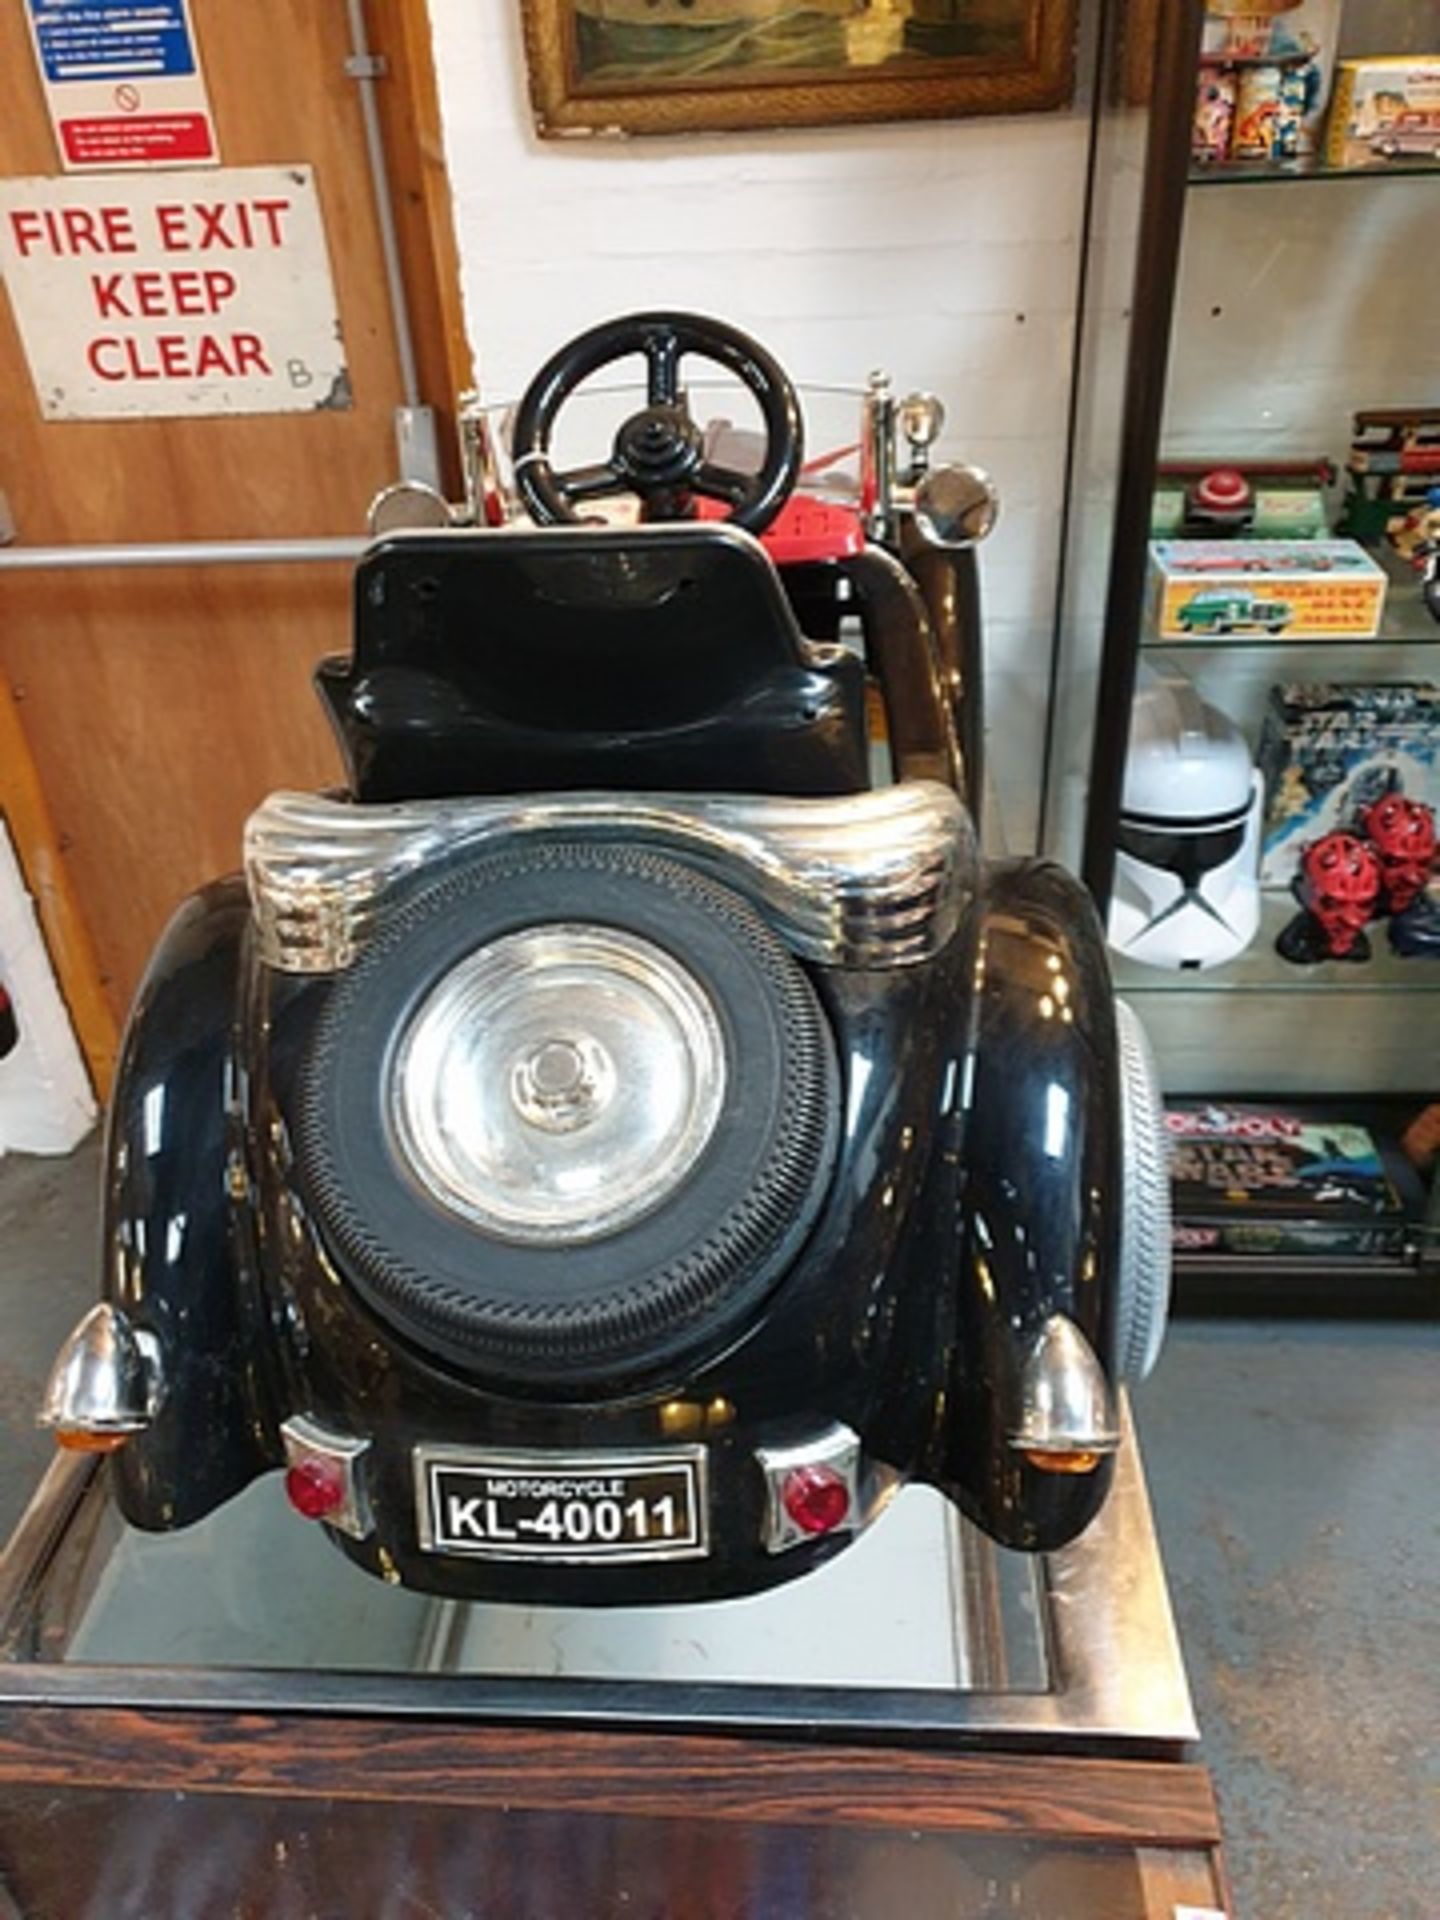
{"label": "white sign with red FIRE EXIT KEEP CLEAR lettering on wooden door", "polygon": [[309,167],[0,180],[0,273],[48,420],[349,405]]}

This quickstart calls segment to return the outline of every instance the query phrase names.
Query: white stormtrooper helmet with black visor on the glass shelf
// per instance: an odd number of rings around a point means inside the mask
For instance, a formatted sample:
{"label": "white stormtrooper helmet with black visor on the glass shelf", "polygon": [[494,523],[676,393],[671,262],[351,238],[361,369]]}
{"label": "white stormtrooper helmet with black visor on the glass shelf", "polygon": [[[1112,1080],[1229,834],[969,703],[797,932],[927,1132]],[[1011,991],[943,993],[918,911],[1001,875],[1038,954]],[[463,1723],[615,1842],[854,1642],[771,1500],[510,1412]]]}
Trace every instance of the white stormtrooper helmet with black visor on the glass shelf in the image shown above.
{"label": "white stormtrooper helmet with black visor on the glass shelf", "polygon": [[1263,781],[1240,730],[1179,674],[1131,708],[1110,945],[1181,972],[1223,966],[1260,925]]}

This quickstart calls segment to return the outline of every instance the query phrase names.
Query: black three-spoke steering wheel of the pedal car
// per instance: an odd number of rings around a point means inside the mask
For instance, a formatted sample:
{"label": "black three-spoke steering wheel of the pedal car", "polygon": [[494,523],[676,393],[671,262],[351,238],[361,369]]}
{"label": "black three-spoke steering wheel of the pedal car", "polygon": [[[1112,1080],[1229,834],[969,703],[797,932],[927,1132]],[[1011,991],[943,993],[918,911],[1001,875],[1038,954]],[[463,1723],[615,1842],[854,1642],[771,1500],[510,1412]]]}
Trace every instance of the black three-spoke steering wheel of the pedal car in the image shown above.
{"label": "black three-spoke steering wheel of the pedal car", "polygon": [[[647,405],[624,422],[607,461],[555,472],[549,444],[561,407],[582,380],[632,353],[645,357]],[[755,394],[766,428],[758,472],[705,459],[705,436],[680,384],[685,353],[718,361]],[[513,442],[515,484],[541,526],[574,522],[584,501],[611,493],[639,493],[647,520],[689,520],[703,493],[730,507],[733,526],[760,534],[785,505],[804,455],[801,403],[778,361],[737,326],[699,313],[630,313],[578,334],[526,388]]]}

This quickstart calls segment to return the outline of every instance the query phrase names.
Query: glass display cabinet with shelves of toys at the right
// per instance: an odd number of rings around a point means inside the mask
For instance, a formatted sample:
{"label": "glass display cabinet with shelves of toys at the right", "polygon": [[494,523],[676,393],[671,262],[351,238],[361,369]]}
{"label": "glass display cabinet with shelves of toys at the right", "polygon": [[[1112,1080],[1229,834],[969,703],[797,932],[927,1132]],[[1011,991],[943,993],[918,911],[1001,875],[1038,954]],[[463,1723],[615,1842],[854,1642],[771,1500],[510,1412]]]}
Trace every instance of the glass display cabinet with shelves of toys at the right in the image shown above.
{"label": "glass display cabinet with shelves of toys at the right", "polygon": [[[1434,1202],[1396,1142],[1440,1096],[1440,12],[1110,12],[1046,839],[1108,914],[1167,1094],[1379,1142],[1404,1231],[1267,1271],[1413,1304]],[[1192,1277],[1246,1265],[1181,1240]]]}

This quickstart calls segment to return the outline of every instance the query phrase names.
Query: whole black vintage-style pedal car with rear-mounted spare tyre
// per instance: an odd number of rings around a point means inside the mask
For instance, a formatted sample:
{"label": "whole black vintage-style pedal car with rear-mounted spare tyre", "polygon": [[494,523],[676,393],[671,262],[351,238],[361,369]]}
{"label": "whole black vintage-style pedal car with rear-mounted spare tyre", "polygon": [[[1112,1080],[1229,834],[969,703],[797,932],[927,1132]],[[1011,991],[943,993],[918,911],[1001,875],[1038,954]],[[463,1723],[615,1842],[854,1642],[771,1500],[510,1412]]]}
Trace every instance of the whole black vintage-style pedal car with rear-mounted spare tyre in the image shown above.
{"label": "whole black vintage-style pedal car with rear-mounted spare tyre", "polygon": [[1016,1548],[1098,1511],[1160,1106],[1087,895],[977,852],[993,495],[939,424],[872,380],[845,501],[760,346],[636,315],[532,384],[518,499],[470,420],[470,524],[369,549],[319,672],[349,787],[265,801],[125,1041],[42,1419],[132,1524],[284,1469],[386,1580],[649,1603],[789,1580],[912,1478]]}

